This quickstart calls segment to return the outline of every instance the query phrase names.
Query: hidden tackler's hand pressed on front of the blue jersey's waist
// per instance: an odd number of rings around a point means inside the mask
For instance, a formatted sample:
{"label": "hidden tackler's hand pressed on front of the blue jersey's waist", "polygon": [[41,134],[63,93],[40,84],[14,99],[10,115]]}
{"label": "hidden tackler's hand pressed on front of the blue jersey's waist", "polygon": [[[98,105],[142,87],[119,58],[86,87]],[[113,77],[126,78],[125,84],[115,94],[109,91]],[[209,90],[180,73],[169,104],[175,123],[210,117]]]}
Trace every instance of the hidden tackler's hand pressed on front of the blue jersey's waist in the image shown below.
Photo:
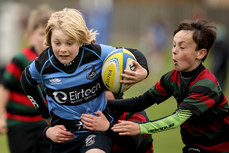
{"label": "hidden tackler's hand pressed on front of the blue jersey's waist", "polygon": [[99,110],[94,114],[97,116],[90,114],[81,115],[81,121],[84,127],[92,131],[106,131],[110,126],[110,122],[107,120],[106,116]]}

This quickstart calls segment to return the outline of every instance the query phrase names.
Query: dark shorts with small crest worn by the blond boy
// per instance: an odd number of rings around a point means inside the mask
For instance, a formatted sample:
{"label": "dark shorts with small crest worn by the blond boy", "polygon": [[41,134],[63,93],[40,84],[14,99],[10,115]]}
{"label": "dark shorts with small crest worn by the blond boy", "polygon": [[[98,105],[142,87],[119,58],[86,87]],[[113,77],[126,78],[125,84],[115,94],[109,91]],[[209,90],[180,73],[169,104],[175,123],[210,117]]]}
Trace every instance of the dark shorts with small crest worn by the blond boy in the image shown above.
{"label": "dark shorts with small crest worn by the blond boy", "polygon": [[87,132],[79,134],[65,143],[51,142],[51,153],[85,153],[90,149],[101,149],[106,153],[111,152],[112,141],[106,132]]}

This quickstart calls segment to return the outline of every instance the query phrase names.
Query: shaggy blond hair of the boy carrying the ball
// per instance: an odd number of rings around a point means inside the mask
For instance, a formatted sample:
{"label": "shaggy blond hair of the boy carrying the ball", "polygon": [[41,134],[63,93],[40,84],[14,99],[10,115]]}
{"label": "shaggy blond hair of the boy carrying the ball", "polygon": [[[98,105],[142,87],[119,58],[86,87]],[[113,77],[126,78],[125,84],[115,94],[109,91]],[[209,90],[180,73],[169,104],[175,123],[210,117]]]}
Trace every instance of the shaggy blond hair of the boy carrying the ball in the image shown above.
{"label": "shaggy blond hair of the boy carrying the ball", "polygon": [[79,44],[95,42],[96,35],[98,34],[97,31],[93,31],[93,29],[88,30],[80,11],[70,8],[65,8],[51,15],[45,30],[45,45],[51,46],[51,34],[55,28],[62,30]]}

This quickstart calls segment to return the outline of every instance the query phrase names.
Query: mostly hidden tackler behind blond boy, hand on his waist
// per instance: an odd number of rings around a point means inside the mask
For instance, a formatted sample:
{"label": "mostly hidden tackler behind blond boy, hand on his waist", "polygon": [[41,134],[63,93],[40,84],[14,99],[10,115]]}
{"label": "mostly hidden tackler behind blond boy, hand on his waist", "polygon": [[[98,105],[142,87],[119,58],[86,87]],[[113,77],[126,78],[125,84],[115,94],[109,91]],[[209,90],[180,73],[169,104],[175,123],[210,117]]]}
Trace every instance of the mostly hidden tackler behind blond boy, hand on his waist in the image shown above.
{"label": "mostly hidden tackler behind blond boy, hand on his waist", "polygon": [[[114,94],[111,91],[105,92],[106,99],[122,99],[123,94]],[[153,153],[153,139],[151,134],[120,136],[111,130],[113,124],[118,120],[133,121],[136,123],[149,121],[145,111],[141,112],[118,112],[110,110],[114,117],[114,122],[110,125],[105,115],[101,111],[95,112],[97,116],[83,114],[81,119],[84,126],[89,130],[109,131],[112,136],[112,153]]]}

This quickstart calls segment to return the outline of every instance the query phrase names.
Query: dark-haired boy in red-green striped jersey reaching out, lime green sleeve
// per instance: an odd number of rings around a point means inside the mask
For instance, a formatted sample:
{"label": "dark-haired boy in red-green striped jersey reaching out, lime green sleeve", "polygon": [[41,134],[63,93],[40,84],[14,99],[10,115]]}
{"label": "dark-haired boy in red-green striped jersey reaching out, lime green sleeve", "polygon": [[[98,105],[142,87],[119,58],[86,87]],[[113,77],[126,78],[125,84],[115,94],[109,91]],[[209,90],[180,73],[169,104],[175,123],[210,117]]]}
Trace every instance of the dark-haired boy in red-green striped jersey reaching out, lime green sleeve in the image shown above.
{"label": "dark-haired boy in red-green striped jersey reaching out, lime green sleeve", "polygon": [[215,27],[205,20],[181,22],[174,31],[174,70],[139,97],[108,101],[112,110],[133,112],[174,96],[177,110],[142,124],[120,121],[112,129],[120,135],[137,135],[180,126],[184,153],[229,153],[228,100],[216,77],[202,64],[215,38]]}

